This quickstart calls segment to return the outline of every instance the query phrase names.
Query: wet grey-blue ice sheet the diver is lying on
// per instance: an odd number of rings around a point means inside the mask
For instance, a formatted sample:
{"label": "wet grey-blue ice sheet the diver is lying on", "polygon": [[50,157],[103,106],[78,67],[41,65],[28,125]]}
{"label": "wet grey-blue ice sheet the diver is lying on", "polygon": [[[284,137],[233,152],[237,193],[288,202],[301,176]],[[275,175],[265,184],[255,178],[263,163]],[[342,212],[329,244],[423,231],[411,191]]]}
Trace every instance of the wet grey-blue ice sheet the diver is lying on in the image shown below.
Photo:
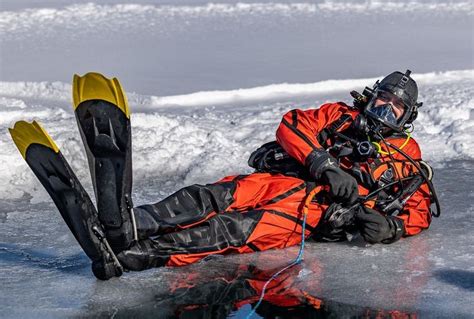
{"label": "wet grey-blue ice sheet the diver is lying on", "polygon": [[[307,243],[303,263],[285,274],[290,277],[285,284],[291,290],[283,289],[281,294],[300,296],[303,291],[322,299],[333,315],[345,317],[362,316],[367,308],[398,310],[422,318],[471,317],[473,178],[473,161],[454,161],[436,171],[435,185],[443,215],[421,235],[390,246],[366,246],[360,240]],[[460,191],[463,189],[466,191]],[[215,316],[225,306],[232,309],[229,305],[239,301],[238,297],[219,298],[219,294],[225,294],[236,284],[242,268],[254,264],[271,273],[294,259],[298,252],[294,247],[215,257],[184,268],[127,273],[120,279],[100,282],[92,276],[87,257],[68,234],[51,203],[17,203],[16,208],[2,211],[3,317],[166,318],[196,304],[207,305],[209,316]],[[221,290],[216,291],[216,282]],[[235,306],[233,310],[239,312]],[[240,311],[246,313],[248,309]]]}

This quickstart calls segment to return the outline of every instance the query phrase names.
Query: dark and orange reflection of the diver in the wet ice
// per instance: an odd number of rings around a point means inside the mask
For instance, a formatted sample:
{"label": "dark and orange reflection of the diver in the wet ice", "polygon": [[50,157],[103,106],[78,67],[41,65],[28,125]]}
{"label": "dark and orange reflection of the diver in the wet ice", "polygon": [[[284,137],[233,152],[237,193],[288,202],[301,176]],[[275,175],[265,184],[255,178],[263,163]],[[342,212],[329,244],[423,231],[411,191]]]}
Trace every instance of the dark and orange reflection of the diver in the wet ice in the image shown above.
{"label": "dark and orange reflection of the diver in the wet ice", "polygon": [[[283,263],[282,263],[283,262]],[[204,265],[191,266],[190,271],[181,276],[150,278],[142,282],[141,289],[146,301],[139,306],[115,308],[99,311],[101,315],[119,317],[158,318],[244,318],[256,305],[263,285],[285,264],[278,255],[261,254],[258,257],[213,260],[207,264],[219,269],[218,275],[209,276],[203,272]],[[300,278],[299,274],[308,271],[313,277]],[[261,267],[261,268],[260,268]],[[321,271],[317,260],[311,265],[297,265],[277,277],[268,285],[263,302],[257,308],[254,318],[315,318],[315,317],[385,317],[390,315],[409,316],[413,312],[397,309],[371,309],[352,303],[324,300],[318,297]],[[158,282],[159,280],[159,282]],[[150,284],[154,282],[154,284]],[[133,285],[133,290],[138,287]],[[103,286],[102,286],[103,287]],[[95,294],[107,291],[97,287]],[[128,291],[130,287],[122,287]],[[89,304],[88,309],[97,314],[98,304]]]}

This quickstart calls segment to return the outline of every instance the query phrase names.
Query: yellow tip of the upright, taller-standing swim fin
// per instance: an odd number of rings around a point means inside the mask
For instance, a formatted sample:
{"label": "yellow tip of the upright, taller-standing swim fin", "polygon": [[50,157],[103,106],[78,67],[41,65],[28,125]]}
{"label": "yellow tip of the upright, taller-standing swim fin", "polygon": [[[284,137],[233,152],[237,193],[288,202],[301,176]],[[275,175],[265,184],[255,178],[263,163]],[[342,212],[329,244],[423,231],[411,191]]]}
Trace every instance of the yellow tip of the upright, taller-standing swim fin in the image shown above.
{"label": "yellow tip of the upright, taller-standing swim fin", "polygon": [[130,118],[127,96],[117,78],[108,79],[95,72],[83,76],[74,74],[72,100],[74,110],[84,101],[104,100],[117,106],[127,118]]}

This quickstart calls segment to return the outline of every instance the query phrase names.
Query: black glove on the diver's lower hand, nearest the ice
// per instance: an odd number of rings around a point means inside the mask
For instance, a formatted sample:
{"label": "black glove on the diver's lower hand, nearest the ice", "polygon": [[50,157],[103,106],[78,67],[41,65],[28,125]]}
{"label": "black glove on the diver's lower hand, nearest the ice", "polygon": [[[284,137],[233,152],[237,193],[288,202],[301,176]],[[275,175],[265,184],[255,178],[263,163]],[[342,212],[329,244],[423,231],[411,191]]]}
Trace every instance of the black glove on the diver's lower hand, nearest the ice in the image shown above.
{"label": "black glove on the diver's lower hand, nearest the ice", "polygon": [[359,224],[362,237],[371,244],[391,244],[399,240],[405,232],[403,220],[384,216],[368,207],[361,207],[356,214],[356,222]]}

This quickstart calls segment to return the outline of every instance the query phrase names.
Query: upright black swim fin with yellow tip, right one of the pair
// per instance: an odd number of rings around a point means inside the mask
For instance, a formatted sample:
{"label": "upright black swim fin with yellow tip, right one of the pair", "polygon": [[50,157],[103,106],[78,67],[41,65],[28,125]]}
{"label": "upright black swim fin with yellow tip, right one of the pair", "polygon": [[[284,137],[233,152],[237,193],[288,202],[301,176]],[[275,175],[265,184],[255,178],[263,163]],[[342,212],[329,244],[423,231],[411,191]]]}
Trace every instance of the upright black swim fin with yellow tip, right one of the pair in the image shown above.
{"label": "upright black swim fin with yellow tip, right one of the pair", "polygon": [[84,142],[99,219],[118,253],[136,240],[132,211],[130,112],[120,82],[99,73],[73,80],[74,111]]}

